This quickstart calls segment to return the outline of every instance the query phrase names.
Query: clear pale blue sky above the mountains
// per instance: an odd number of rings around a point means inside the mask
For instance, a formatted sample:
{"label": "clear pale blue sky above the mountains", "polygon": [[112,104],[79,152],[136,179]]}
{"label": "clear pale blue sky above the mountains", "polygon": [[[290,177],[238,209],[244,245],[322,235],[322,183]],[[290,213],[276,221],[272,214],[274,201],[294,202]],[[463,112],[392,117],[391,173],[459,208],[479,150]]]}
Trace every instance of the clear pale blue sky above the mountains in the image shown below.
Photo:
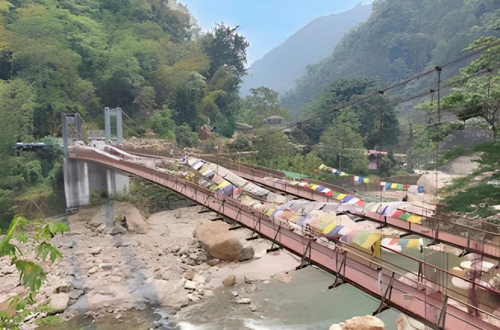
{"label": "clear pale blue sky above the mountains", "polygon": [[248,64],[262,57],[312,19],[371,0],[178,0],[198,19],[202,31],[215,22],[235,26],[250,42]]}

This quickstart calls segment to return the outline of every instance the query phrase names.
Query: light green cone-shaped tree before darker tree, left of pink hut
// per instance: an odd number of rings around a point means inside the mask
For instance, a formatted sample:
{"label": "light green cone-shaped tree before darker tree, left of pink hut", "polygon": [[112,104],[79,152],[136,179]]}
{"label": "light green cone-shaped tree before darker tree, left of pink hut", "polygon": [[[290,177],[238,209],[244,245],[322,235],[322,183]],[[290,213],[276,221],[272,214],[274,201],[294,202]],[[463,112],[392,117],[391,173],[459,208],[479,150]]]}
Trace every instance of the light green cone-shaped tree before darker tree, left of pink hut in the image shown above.
{"label": "light green cone-shaped tree before darker tree, left of pink hut", "polygon": [[350,108],[341,110],[321,134],[318,154],[330,166],[353,173],[364,173],[368,158],[359,133],[359,119]]}

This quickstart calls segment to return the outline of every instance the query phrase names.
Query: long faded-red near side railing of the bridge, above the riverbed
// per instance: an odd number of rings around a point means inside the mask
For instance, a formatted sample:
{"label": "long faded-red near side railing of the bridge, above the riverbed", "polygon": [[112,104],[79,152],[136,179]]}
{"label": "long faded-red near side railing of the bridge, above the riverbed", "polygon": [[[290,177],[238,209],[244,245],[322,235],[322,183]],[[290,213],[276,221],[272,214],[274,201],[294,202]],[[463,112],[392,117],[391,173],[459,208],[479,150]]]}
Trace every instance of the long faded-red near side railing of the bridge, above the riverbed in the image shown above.
{"label": "long faded-red near side railing of the bridge, above the riverbed", "polygon": [[[381,298],[380,308],[383,303],[387,303],[427,324],[446,328],[465,328],[467,325],[471,328],[493,328],[500,325],[498,316],[447,294],[454,290],[428,279],[419,281],[414,278],[413,273],[375,258],[355,246],[334,241],[335,247],[332,249],[311,236],[294,232],[281,223],[273,223],[272,219],[261,211],[193,182],[145,165],[107,157],[89,149],[76,149],[70,151],[70,157],[98,161],[143,177],[240,222],[294,253],[303,255],[304,259],[337,273],[349,283]],[[342,254],[343,261],[339,257]],[[377,267],[380,267],[380,270],[377,270]]]}

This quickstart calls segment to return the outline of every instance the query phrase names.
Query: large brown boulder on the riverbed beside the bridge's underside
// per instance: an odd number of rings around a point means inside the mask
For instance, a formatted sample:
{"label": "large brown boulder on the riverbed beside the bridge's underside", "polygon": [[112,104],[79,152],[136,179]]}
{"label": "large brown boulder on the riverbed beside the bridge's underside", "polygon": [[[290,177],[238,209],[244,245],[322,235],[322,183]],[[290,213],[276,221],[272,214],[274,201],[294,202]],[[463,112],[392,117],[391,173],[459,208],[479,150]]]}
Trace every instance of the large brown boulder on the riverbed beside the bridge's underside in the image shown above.
{"label": "large brown boulder on the riverbed beside the bridge's underside", "polygon": [[211,257],[225,261],[253,258],[253,247],[246,241],[247,234],[229,231],[223,221],[205,220],[196,226],[194,236]]}

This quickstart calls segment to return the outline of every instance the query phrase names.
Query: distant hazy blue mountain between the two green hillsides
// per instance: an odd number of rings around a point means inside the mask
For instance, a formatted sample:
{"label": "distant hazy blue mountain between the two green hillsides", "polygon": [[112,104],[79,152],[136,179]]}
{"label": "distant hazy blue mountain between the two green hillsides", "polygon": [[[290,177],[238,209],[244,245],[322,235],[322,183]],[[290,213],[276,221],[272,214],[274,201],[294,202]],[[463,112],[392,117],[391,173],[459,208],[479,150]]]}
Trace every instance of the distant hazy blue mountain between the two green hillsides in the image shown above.
{"label": "distant hazy blue mountain between the two green hillsides", "polygon": [[241,92],[266,86],[279,93],[294,86],[295,79],[305,73],[308,64],[314,64],[331,53],[338,40],[352,26],[365,21],[371,4],[317,17],[300,28],[283,43],[257,59],[243,78]]}

